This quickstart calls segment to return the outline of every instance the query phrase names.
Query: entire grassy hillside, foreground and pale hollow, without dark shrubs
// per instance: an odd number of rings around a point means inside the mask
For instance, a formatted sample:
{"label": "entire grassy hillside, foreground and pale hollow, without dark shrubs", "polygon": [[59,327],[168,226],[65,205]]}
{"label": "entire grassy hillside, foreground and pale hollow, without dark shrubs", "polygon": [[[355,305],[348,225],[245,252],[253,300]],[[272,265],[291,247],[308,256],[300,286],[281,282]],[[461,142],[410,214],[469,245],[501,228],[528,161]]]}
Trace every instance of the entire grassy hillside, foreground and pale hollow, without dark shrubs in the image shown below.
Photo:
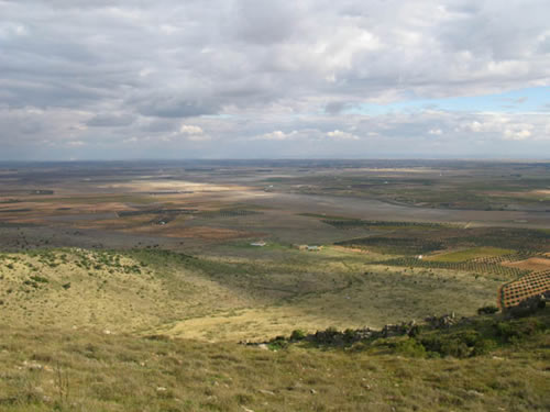
{"label": "entire grassy hillside, foreground and pale hollow, without dark shrubs", "polygon": [[[270,352],[235,344],[298,327],[472,314],[492,301],[498,279],[367,266],[380,256],[341,248],[230,252],[2,255],[0,411],[549,407],[548,335],[461,360],[410,358],[388,346]],[[200,341],[143,337],[154,331]]]}

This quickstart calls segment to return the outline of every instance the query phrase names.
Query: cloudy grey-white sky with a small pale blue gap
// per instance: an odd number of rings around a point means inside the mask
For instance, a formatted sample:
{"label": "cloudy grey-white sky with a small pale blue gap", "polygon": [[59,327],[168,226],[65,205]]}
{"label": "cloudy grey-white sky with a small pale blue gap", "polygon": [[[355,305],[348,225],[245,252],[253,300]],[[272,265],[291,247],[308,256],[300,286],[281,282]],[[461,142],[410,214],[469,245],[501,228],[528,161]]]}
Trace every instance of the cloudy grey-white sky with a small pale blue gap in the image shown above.
{"label": "cloudy grey-white sky with a small pale blue gap", "polygon": [[548,0],[0,0],[0,159],[550,158]]}

